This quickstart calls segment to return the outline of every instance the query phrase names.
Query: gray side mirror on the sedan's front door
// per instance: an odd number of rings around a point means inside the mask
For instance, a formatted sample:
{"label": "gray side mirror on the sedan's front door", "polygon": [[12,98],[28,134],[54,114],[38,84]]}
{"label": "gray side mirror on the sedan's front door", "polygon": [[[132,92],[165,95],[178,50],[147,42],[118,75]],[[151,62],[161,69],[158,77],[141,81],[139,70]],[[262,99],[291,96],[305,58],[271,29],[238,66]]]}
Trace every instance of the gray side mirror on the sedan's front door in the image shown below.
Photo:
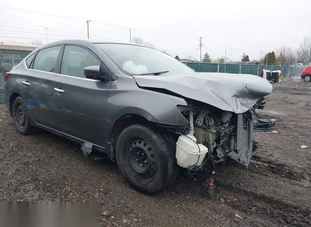
{"label": "gray side mirror on the sedan's front door", "polygon": [[106,65],[91,65],[84,68],[84,75],[89,79],[99,79],[102,81],[110,81],[112,78],[111,71]]}

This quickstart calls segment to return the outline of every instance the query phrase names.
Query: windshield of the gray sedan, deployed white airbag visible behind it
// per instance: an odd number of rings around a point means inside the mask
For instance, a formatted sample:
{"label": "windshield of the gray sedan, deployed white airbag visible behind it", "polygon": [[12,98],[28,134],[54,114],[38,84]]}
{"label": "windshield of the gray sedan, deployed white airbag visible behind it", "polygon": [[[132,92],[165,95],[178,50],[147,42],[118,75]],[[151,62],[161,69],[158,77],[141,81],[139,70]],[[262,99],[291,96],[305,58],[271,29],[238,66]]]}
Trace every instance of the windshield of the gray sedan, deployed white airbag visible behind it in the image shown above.
{"label": "windshield of the gray sedan, deployed white airbag visible behind it", "polygon": [[99,46],[117,64],[119,69],[128,75],[150,73],[151,75],[168,76],[194,73],[184,63],[149,47],[118,43],[97,43],[95,45]]}

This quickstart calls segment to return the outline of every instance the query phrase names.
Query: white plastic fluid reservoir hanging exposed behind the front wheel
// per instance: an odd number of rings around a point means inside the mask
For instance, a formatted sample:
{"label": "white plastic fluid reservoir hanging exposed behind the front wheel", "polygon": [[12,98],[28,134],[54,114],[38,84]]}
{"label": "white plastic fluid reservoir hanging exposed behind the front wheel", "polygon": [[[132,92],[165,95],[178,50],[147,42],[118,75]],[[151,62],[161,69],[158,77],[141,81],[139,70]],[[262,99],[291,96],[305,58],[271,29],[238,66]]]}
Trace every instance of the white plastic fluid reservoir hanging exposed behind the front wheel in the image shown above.
{"label": "white plastic fluid reservoir hanging exposed behind the front wheel", "polygon": [[[200,148],[200,149],[199,149]],[[207,147],[197,144],[196,138],[191,135],[181,135],[176,142],[177,164],[181,167],[200,166],[206,153]]]}

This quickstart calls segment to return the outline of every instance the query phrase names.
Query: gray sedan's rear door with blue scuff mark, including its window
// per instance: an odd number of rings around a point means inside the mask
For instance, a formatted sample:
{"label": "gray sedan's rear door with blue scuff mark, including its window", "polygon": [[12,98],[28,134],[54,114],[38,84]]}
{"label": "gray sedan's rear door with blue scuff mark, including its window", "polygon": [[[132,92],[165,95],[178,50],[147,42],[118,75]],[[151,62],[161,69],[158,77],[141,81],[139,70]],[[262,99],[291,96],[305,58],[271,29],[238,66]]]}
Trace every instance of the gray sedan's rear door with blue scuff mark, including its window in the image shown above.
{"label": "gray sedan's rear door with blue scuff mark, including its window", "polygon": [[35,57],[27,58],[25,74],[19,75],[21,95],[30,114],[36,123],[47,127],[52,126],[52,83],[58,73],[61,47],[55,45],[39,50]]}

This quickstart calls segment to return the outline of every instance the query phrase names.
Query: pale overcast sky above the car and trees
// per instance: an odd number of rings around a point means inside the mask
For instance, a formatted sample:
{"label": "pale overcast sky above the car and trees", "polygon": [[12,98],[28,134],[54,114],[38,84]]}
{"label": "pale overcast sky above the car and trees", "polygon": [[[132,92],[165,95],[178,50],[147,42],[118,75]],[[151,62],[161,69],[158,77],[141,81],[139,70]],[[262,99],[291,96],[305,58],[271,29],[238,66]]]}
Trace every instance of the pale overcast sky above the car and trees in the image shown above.
{"label": "pale overcast sky above the car and trees", "polygon": [[[147,3],[149,2],[149,3]],[[38,13],[36,13],[38,12]],[[250,60],[311,36],[311,0],[0,0],[0,41],[63,38],[129,42],[141,37],[180,58]],[[264,56],[264,53],[262,56]]]}

